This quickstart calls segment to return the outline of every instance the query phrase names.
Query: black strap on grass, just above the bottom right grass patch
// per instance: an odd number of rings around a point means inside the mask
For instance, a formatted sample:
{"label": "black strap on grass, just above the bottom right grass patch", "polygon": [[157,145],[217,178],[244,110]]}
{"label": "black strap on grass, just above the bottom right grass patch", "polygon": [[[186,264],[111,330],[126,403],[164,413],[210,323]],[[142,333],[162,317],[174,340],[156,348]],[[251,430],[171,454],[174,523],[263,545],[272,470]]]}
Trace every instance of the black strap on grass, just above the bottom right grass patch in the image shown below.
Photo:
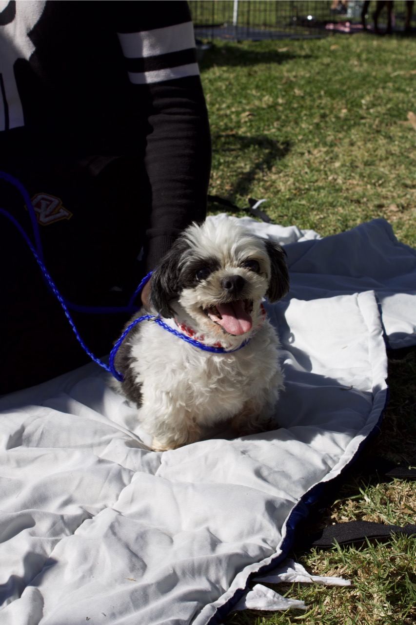
{"label": "black strap on grass, just above the bottom right grass patch", "polygon": [[384,539],[393,534],[405,534],[413,536],[416,534],[416,525],[385,525],[384,523],[373,523],[371,521],[348,521],[337,523],[325,527],[322,532],[310,536],[310,543],[314,547],[333,547],[338,542],[340,545],[364,542],[365,539]]}

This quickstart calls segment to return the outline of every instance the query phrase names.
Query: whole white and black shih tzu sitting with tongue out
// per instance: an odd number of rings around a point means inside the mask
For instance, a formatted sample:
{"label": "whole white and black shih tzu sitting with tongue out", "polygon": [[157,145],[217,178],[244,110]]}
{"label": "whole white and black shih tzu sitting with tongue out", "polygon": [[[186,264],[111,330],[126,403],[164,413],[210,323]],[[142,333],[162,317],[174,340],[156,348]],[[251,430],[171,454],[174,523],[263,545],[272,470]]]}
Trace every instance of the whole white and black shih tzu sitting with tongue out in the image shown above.
{"label": "whole white and black shih tzu sitting with tongue out", "polygon": [[288,289],[282,247],[234,217],[181,234],[152,276],[150,312],[202,349],[144,321],[115,358],[121,392],[139,408],[152,449],[199,441],[219,422],[239,436],[277,427],[279,339],[262,301],[276,302]]}

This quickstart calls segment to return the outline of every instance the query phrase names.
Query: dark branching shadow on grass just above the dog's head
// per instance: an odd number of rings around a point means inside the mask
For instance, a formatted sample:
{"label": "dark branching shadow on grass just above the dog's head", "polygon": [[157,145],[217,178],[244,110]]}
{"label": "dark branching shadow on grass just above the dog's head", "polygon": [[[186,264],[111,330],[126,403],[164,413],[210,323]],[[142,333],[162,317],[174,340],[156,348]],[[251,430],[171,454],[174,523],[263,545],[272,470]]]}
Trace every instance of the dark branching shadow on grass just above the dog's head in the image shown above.
{"label": "dark branching shadow on grass just above the dog's head", "polygon": [[[253,158],[250,154],[252,149],[259,158]],[[249,193],[250,187],[260,171],[270,171],[272,167],[289,154],[291,144],[289,141],[278,143],[265,136],[250,137],[238,134],[213,134],[212,151],[214,153],[230,154],[230,159],[235,161],[239,156],[245,156],[245,161],[251,161],[252,166],[249,171],[233,176],[232,183],[227,187],[228,196],[245,196]],[[244,153],[247,153],[244,155]]]}

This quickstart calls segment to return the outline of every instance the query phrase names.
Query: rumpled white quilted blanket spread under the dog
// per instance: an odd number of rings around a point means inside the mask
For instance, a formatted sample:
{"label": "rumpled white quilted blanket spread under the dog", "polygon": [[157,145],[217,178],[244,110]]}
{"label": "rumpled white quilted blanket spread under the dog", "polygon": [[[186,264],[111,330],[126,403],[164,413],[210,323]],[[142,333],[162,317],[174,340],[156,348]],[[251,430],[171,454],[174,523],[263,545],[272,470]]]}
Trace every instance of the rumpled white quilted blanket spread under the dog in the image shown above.
{"label": "rumpled white quilted blanket spread under the dog", "polygon": [[[282,427],[169,452],[96,364],[0,399],[0,622],[220,623],[277,566],[317,485],[379,427],[391,346],[416,343],[416,252],[375,220],[285,244]],[[384,325],[384,327],[383,327]]]}

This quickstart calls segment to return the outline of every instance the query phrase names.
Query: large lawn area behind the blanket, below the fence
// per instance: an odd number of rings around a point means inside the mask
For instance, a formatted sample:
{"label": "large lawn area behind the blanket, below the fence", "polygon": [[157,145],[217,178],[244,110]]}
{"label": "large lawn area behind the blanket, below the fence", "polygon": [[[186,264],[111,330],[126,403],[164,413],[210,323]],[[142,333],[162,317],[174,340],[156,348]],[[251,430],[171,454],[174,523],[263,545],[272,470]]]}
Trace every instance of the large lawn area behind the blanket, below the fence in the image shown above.
{"label": "large lawn area behind the blanket, below the fence", "polygon": [[202,63],[210,191],[321,234],[374,217],[416,246],[416,41],[216,42]]}

